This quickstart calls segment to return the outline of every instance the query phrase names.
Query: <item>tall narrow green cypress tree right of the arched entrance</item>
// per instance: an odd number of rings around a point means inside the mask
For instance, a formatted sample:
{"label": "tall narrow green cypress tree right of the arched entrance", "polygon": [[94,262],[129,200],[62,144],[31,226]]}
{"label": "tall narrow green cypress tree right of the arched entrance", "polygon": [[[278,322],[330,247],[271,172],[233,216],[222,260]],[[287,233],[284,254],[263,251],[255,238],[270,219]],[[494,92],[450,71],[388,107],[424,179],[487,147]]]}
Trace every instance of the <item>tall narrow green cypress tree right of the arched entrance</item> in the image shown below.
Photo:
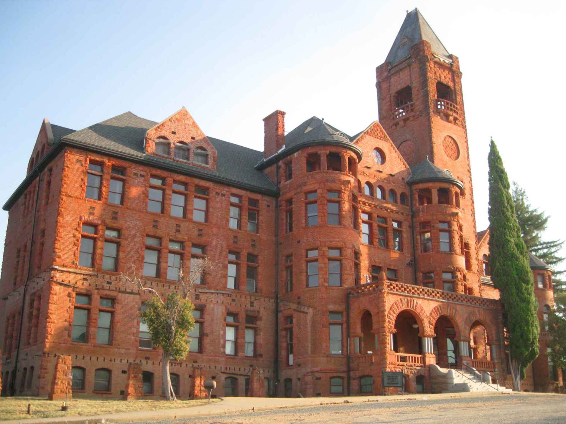
{"label": "tall narrow green cypress tree right of the arched entrance", "polygon": [[500,291],[505,310],[513,387],[520,391],[526,366],[538,356],[538,304],[528,250],[509,192],[509,179],[493,140],[488,162],[491,278]]}

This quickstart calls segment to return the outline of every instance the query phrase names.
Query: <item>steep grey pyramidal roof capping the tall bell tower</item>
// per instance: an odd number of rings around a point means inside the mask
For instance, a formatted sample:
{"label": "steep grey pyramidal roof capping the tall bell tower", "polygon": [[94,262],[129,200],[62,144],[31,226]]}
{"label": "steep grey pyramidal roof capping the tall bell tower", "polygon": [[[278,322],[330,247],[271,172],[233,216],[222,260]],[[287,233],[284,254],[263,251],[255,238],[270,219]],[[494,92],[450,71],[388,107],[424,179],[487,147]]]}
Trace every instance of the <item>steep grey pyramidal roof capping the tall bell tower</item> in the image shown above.
{"label": "steep grey pyramidal roof capping the tall bell tower", "polygon": [[426,40],[430,43],[432,53],[450,59],[450,53],[448,53],[446,47],[444,47],[434,31],[432,31],[432,28],[423,18],[418,8],[415,8],[405,16],[405,20],[391,46],[391,50],[389,50],[385,62],[389,62],[393,65],[402,59],[408,58],[411,55],[411,47],[422,40]]}

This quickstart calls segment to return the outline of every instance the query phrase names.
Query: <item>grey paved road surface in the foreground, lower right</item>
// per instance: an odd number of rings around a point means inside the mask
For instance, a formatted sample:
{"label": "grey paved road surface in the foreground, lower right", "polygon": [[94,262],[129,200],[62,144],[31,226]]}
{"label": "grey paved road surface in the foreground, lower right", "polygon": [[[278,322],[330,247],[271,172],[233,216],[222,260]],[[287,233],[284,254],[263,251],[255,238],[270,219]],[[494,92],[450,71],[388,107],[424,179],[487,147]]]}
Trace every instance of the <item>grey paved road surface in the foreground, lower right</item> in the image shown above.
{"label": "grey paved road surface in the foreground, lower right", "polygon": [[[301,406],[207,418],[152,421],[160,424],[220,423],[566,423],[566,396],[497,395]],[[149,423],[147,423],[149,424]]]}

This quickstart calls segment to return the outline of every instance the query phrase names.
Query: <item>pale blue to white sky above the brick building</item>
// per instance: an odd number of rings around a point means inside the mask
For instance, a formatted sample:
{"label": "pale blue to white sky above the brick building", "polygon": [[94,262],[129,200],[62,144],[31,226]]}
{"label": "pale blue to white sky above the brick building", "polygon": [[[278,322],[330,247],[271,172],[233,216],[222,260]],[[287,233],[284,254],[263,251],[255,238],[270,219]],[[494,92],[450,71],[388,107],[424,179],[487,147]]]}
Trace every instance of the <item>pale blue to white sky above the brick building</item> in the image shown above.
{"label": "pale blue to white sky above the brick building", "polygon": [[[544,237],[566,239],[564,4],[0,0],[0,203],[24,179],[44,118],[82,129],[185,106],[208,136],[257,150],[276,109],[288,131],[316,115],[358,133],[378,119],[375,67],[418,7],[460,59],[477,230],[493,137],[509,179],[551,215]],[[7,219],[0,211],[2,236]]]}

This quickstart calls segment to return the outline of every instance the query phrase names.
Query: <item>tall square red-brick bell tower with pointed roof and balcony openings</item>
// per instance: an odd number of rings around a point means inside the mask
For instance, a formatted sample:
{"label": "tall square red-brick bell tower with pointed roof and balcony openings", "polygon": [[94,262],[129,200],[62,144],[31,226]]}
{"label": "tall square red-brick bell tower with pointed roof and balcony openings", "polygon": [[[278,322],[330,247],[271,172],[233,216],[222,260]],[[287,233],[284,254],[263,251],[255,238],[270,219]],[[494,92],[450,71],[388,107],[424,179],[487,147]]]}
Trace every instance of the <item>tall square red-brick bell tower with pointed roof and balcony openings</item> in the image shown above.
{"label": "tall square red-brick bell tower with pointed roof and balcony openings", "polygon": [[[461,181],[461,251],[466,278],[479,284],[468,134],[458,58],[415,8],[405,16],[383,64],[376,68],[379,122],[414,168],[430,161]],[[474,284],[475,285],[475,284]]]}

